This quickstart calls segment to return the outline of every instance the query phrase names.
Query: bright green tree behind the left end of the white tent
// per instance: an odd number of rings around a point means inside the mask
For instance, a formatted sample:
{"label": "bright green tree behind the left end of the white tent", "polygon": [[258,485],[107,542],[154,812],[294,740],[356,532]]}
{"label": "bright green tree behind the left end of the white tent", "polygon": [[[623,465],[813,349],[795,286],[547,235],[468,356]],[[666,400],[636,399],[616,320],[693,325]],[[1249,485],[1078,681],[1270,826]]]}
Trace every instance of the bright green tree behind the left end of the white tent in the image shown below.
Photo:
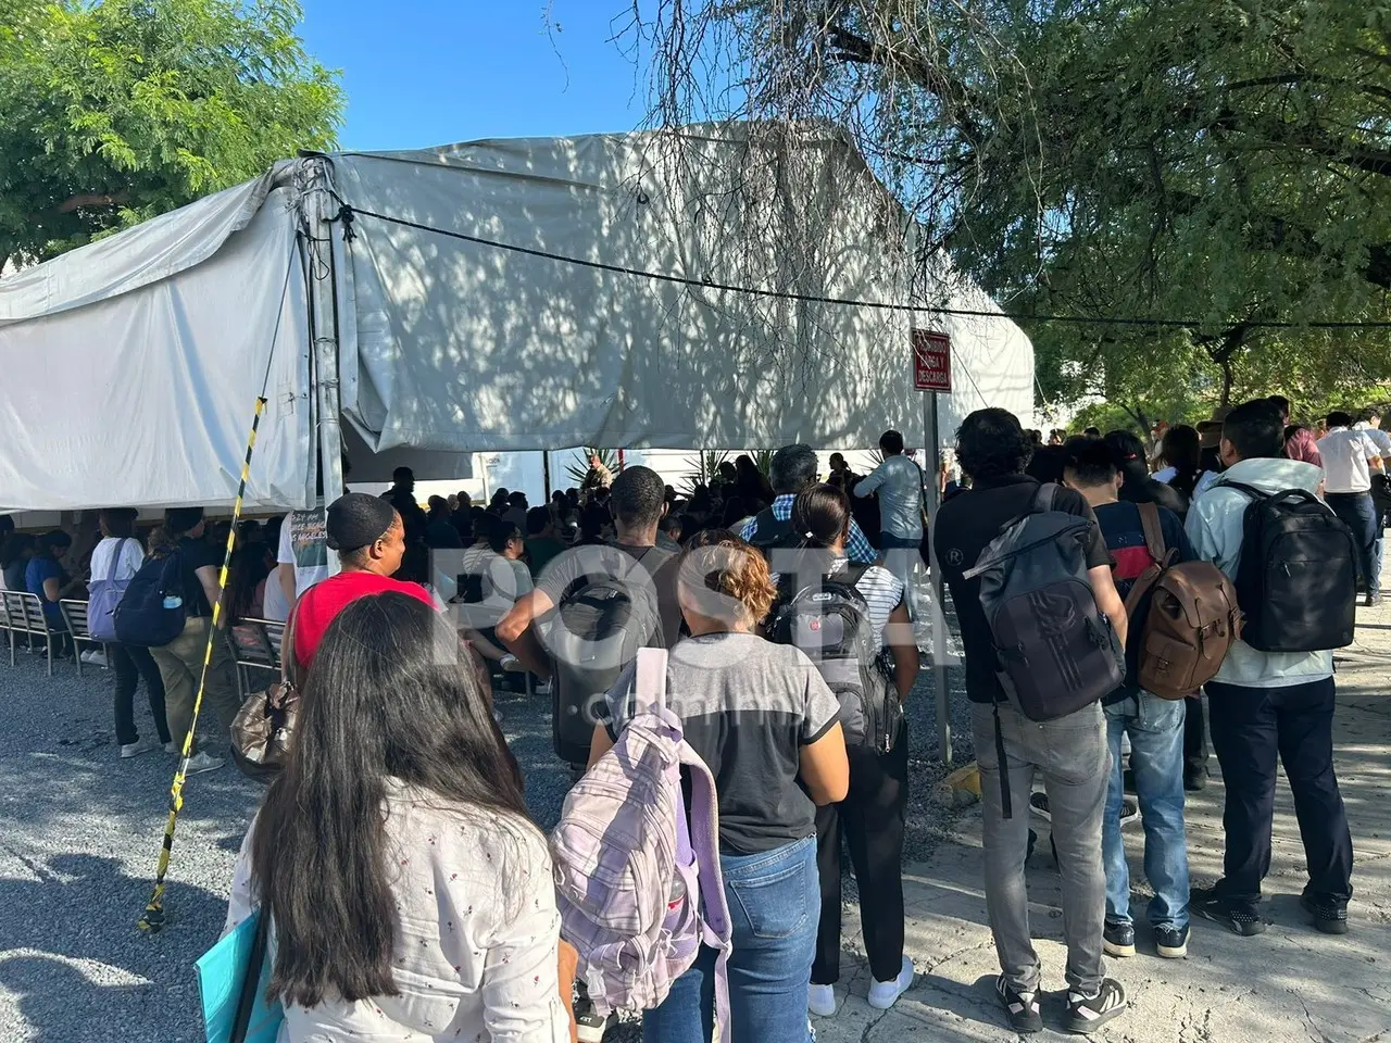
{"label": "bright green tree behind the left end of the white tent", "polygon": [[296,0],[0,0],[0,266],[330,149]]}

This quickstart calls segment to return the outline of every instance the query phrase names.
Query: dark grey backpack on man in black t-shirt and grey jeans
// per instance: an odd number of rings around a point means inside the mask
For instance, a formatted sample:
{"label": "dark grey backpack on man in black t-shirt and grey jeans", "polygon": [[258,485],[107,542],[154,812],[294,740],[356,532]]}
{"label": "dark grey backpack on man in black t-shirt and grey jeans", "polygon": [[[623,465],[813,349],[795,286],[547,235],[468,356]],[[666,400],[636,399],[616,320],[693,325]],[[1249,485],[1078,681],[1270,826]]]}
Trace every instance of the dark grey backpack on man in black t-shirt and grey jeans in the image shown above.
{"label": "dark grey backpack on man in black t-shirt and grey jeans", "polygon": [[[1086,579],[1092,523],[1056,510],[1057,492],[1052,483],[1040,485],[1029,512],[1006,526],[965,573],[981,579],[1000,687],[1029,720],[1066,718],[1125,680],[1120,637]],[[1003,745],[999,723],[996,743]],[[1004,809],[1008,816],[1008,794]]]}

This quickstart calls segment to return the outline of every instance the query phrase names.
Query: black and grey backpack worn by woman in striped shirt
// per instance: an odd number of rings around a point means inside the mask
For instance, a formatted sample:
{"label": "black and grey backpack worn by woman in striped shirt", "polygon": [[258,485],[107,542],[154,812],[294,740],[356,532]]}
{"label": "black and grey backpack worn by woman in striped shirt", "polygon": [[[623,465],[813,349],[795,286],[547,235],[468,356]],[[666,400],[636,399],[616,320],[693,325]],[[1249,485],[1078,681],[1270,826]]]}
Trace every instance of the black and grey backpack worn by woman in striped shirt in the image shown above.
{"label": "black and grey backpack worn by woman in striped shirt", "polygon": [[794,645],[821,672],[840,701],[846,745],[876,754],[893,750],[903,725],[903,704],[878,651],[869,606],[855,583],[868,566],[850,565],[803,584],[782,573],[768,640]]}

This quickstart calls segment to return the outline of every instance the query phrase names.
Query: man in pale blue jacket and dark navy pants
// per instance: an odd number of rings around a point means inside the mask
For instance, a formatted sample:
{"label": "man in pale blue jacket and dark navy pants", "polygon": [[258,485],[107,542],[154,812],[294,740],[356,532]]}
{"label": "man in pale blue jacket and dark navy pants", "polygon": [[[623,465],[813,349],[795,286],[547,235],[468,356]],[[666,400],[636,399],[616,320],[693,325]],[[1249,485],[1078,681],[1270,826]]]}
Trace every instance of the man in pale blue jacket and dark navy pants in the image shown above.
{"label": "man in pale blue jacket and dark navy pants", "polygon": [[[1232,580],[1241,560],[1251,498],[1225,483],[1266,494],[1317,492],[1323,471],[1285,458],[1284,427],[1269,401],[1234,409],[1223,424],[1221,478],[1188,510],[1188,538],[1202,560]],[[1238,935],[1266,929],[1260,882],[1270,872],[1276,773],[1284,761],[1309,868],[1301,904],[1314,926],[1348,930],[1352,836],[1333,770],[1333,652],[1262,652],[1232,644],[1207,687],[1213,750],[1227,786],[1223,879],[1195,890],[1192,911]]]}

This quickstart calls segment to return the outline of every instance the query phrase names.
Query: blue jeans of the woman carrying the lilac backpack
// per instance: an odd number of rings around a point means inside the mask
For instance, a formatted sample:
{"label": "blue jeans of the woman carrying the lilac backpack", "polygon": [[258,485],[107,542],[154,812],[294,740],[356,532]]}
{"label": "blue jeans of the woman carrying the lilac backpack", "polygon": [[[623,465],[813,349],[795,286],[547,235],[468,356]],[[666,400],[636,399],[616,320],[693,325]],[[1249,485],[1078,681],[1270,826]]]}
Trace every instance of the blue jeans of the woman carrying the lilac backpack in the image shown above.
{"label": "blue jeans of the woman carrying the lilac backpack", "polygon": [[[817,839],[757,855],[721,855],[734,950],[729,957],[733,1043],[808,1043],[807,983],[821,922]],[[715,1030],[715,950],[643,1015],[644,1043],[709,1043]]]}

